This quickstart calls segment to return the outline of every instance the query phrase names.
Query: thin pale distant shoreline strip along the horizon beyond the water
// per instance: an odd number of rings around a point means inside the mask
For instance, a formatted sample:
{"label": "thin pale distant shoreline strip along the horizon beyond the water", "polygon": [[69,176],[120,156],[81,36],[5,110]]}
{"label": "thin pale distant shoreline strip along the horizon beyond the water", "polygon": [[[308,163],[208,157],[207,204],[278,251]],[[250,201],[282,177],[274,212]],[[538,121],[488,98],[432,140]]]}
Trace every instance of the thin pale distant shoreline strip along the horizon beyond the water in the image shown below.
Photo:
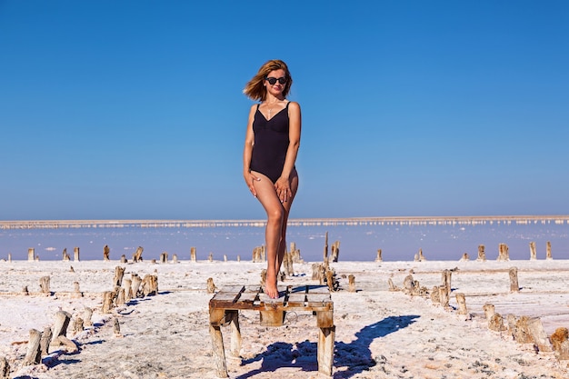
{"label": "thin pale distant shoreline strip along the horizon beyond the water", "polygon": [[[480,215],[480,216],[388,216],[344,218],[298,218],[293,226],[362,224],[569,224],[569,214],[556,215]],[[0,221],[0,229],[59,229],[112,227],[229,227],[265,226],[265,220],[21,220]]]}

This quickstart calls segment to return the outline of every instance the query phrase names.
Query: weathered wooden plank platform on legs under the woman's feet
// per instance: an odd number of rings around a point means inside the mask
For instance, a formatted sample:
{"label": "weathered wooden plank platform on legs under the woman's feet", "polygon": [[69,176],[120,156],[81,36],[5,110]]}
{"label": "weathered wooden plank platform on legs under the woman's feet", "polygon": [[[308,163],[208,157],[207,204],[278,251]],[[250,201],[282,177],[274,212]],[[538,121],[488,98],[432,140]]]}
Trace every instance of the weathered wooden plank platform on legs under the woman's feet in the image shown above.
{"label": "weathered wooden plank platform on legs under the woman's feet", "polygon": [[[281,288],[279,287],[279,290]],[[312,312],[316,316],[318,334],[318,371],[332,375],[334,365],[334,302],[325,285],[288,286],[279,292],[277,299],[263,293],[259,285],[243,285],[223,288],[209,301],[209,323],[214,346],[217,376],[225,378],[225,348],[222,325],[231,325],[231,354],[239,356],[241,350],[241,330],[239,311],[260,312],[264,326],[281,326],[288,311]]]}

